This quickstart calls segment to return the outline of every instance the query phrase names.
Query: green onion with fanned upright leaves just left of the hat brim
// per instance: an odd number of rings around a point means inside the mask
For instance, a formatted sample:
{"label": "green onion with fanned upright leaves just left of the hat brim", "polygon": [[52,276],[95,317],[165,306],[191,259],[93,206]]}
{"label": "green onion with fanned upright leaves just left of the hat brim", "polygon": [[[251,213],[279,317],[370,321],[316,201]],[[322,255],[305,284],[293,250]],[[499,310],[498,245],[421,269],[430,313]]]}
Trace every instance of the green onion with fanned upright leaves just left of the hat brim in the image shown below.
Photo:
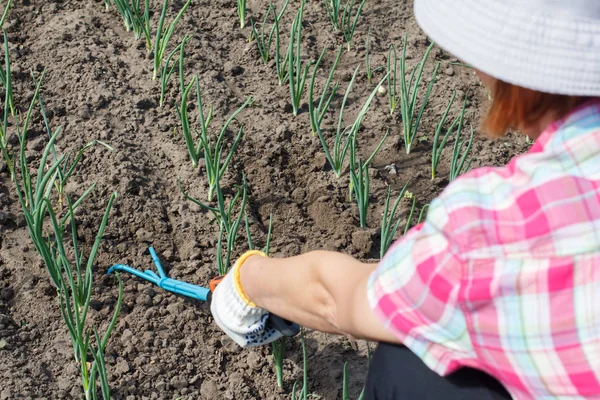
{"label": "green onion with fanned upright leaves just left of the hat brim", "polygon": [[417,98],[419,95],[421,82],[423,80],[423,69],[425,68],[425,64],[427,59],[429,58],[429,54],[433,49],[434,44],[432,43],[425,52],[422,60],[419,64],[413,69],[410,73],[410,77],[408,81],[406,77],[408,76],[406,73],[406,48],[408,46],[408,36],[404,39],[404,48],[402,49],[402,56],[400,57],[400,88],[398,89],[398,76],[397,76],[397,64],[398,58],[396,56],[396,49],[394,46],[390,46],[390,51],[388,52],[388,73],[390,74],[390,79],[388,80],[388,95],[390,97],[390,111],[393,114],[396,107],[400,106],[400,113],[402,117],[402,134],[404,136],[404,145],[406,146],[406,154],[410,154],[412,149],[415,137],[417,135],[417,131],[419,130],[419,125],[421,123],[421,118],[423,117],[423,112],[427,106],[429,101],[429,96],[431,95],[431,90],[437,78],[437,73],[440,68],[440,63],[438,62],[435,66],[435,70],[433,71],[433,75],[429,81],[429,85],[427,86],[427,90],[423,99],[421,100],[421,107],[417,108]]}

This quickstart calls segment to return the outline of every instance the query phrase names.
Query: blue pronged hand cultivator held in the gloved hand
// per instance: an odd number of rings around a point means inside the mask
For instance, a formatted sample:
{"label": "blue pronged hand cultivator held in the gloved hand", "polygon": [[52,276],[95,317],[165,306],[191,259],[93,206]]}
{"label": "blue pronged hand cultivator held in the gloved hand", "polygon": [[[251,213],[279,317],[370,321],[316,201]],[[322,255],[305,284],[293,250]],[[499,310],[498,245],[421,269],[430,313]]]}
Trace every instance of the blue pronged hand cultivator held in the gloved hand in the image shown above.
{"label": "blue pronged hand cultivator held in the gloved hand", "polygon": [[[151,282],[159,288],[169,291],[171,293],[208,302],[211,301],[212,292],[224,278],[224,276],[219,276],[217,278],[212,279],[210,281],[210,289],[205,288],[203,286],[198,286],[188,282],[180,281],[177,279],[171,279],[163,270],[162,264],[160,263],[160,260],[158,259],[158,256],[156,255],[154,249],[152,247],[149,247],[148,251],[150,252],[150,256],[152,257],[152,261],[154,262],[154,266],[156,266],[158,274],[151,270],[142,272],[124,264],[113,265],[108,270],[108,273],[111,274],[114,271],[127,272],[145,281]],[[278,317],[275,314],[269,314],[267,324],[273,329],[276,329],[279,332],[281,332],[283,336],[287,337],[296,336],[300,332],[300,326],[298,324]]]}

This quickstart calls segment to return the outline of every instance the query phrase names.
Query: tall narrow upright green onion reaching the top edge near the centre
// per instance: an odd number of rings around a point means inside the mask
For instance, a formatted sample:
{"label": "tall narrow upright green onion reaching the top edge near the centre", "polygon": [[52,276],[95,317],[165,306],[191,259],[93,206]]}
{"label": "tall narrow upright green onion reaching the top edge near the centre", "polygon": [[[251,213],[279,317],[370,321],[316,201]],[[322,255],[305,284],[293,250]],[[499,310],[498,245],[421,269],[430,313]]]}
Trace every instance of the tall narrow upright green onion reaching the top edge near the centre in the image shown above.
{"label": "tall narrow upright green onion reaching the top edge near the centre", "polygon": [[292,108],[294,110],[294,116],[298,115],[300,109],[300,101],[304,94],[304,87],[306,86],[306,77],[311,63],[302,65],[302,57],[300,55],[300,45],[302,43],[302,14],[304,13],[304,3],[306,0],[302,0],[300,3],[300,9],[294,22],[292,23],[292,29],[290,31],[290,45],[288,47],[288,79],[290,83],[290,96],[292,98]]}

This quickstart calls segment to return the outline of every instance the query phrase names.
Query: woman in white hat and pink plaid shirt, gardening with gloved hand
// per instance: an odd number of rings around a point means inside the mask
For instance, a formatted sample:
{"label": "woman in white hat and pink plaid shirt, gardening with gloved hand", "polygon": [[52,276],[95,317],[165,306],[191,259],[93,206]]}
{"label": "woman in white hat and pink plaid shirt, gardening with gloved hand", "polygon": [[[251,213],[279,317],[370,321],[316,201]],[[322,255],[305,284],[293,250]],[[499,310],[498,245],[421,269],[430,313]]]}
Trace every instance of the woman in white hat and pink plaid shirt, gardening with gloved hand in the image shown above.
{"label": "woman in white hat and pink plaid shirt, gardening with gloved hand", "polygon": [[456,179],[379,265],[244,255],[215,321],[242,346],[278,337],[267,310],[378,341],[373,399],[600,398],[600,1],[415,0],[415,14],[490,89],[484,129],[535,144]]}

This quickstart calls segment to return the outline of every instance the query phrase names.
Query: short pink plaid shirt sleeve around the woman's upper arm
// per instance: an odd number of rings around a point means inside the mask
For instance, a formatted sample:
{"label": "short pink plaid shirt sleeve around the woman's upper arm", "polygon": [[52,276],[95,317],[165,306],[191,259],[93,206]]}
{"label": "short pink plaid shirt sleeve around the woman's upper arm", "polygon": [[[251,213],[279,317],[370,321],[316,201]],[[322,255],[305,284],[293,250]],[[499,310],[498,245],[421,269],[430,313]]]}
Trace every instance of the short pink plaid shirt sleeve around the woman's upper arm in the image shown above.
{"label": "short pink plaid shirt sleeve around the woman's upper arm", "polygon": [[388,250],[367,289],[384,325],[440,375],[473,358],[459,304],[464,262],[444,232],[447,224],[448,213],[434,200],[425,222]]}

